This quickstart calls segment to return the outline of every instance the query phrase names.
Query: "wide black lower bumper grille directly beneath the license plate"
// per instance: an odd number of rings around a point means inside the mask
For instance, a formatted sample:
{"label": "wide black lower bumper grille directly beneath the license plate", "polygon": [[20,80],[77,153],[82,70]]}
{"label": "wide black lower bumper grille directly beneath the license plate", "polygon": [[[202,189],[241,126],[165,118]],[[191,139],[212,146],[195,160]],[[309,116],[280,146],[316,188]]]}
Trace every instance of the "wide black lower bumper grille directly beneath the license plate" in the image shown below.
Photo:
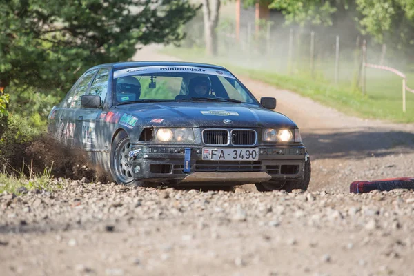
{"label": "wide black lower bumper grille directly beneath the license plate", "polygon": [[196,172],[259,172],[262,161],[210,161],[197,160]]}

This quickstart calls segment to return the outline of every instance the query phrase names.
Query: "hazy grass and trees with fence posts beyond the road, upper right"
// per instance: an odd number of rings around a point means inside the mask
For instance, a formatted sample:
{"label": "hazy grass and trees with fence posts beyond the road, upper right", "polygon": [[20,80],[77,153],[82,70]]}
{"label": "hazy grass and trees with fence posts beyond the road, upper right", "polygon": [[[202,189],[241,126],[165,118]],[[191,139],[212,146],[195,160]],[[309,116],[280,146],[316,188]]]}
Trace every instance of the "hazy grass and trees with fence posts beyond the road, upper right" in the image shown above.
{"label": "hazy grass and trees with fence posts beyond the road, upper right", "polygon": [[[373,68],[366,68],[364,78],[362,66],[365,57],[366,63],[400,70],[414,87],[414,6],[408,0],[351,2],[242,0],[238,22],[236,4],[221,1],[186,24],[181,47],[163,51],[225,66],[349,115],[414,122],[414,94],[408,90],[402,110],[402,78]],[[218,21],[211,19],[217,13]],[[213,34],[203,29],[208,17]]]}

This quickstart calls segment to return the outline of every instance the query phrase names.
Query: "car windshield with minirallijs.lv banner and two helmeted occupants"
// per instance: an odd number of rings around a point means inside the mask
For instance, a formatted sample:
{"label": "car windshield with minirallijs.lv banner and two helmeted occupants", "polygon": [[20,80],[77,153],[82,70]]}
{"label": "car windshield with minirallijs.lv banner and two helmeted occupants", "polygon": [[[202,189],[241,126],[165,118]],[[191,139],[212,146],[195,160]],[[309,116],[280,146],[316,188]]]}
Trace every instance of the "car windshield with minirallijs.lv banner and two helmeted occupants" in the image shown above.
{"label": "car windshield with minirallijs.lv banner and two helmeted occupants", "polygon": [[254,103],[228,71],[196,66],[147,66],[114,72],[115,104],[159,101]]}

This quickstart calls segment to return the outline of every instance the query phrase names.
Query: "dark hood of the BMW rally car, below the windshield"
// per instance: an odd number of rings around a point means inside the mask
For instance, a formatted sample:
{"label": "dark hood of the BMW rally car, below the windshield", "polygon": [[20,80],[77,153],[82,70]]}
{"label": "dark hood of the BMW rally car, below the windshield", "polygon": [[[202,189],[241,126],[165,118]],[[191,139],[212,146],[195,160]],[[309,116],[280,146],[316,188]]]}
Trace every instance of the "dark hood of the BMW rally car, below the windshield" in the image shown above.
{"label": "dark hood of the BMW rally car, below the windshield", "polygon": [[279,112],[243,103],[134,103],[113,111],[137,117],[141,126],[297,128]]}

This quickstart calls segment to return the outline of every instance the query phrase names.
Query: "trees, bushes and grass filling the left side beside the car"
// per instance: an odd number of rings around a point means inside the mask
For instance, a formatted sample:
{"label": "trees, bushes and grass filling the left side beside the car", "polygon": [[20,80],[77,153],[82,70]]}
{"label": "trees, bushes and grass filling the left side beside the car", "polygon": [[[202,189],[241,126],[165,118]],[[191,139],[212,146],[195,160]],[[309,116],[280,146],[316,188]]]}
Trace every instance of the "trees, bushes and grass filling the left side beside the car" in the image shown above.
{"label": "trees, bushes and grass filling the left side beside the car", "polygon": [[188,0],[1,1],[0,192],[49,189],[52,177],[99,179],[83,155],[46,133],[52,106],[88,68],[181,41],[197,9]]}

